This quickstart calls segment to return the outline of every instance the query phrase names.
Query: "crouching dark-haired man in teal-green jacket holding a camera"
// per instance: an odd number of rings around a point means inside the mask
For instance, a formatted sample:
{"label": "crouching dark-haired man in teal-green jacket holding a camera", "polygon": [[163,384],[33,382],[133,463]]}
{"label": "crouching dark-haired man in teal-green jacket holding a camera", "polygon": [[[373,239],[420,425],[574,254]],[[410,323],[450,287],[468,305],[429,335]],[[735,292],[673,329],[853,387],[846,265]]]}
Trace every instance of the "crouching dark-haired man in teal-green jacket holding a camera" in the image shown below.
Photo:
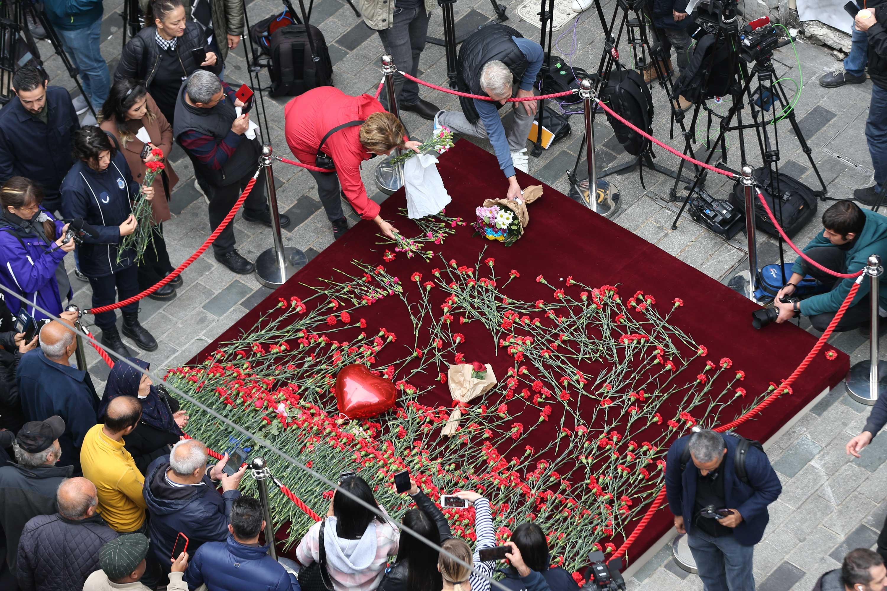
{"label": "crouching dark-haired man in teal-green jacket holding a camera", "polygon": [[[853,201],[844,200],[825,210],[822,214],[822,225],[823,230],[804,248],[804,254],[820,265],[835,272],[854,273],[866,266],[867,259],[871,255],[881,256],[881,260],[887,262],[887,217],[869,209],[860,209]],[[813,328],[820,332],[824,331],[850,293],[855,279],[837,278],[820,271],[801,257],[797,258],[791,271],[789,282],[776,296],[774,305],[779,309],[776,322],[785,322],[799,311],[810,317]],[[808,297],[800,303],[782,303],[780,298],[795,293],[797,282],[807,275],[831,286],[831,289],[824,294]],[[887,274],[883,274],[880,281],[878,305],[881,314],[887,315]],[[864,279],[851,306],[835,327],[836,332],[860,328],[864,335],[868,335],[871,315],[870,287],[871,280]],[[887,327],[887,322],[882,326]]]}

